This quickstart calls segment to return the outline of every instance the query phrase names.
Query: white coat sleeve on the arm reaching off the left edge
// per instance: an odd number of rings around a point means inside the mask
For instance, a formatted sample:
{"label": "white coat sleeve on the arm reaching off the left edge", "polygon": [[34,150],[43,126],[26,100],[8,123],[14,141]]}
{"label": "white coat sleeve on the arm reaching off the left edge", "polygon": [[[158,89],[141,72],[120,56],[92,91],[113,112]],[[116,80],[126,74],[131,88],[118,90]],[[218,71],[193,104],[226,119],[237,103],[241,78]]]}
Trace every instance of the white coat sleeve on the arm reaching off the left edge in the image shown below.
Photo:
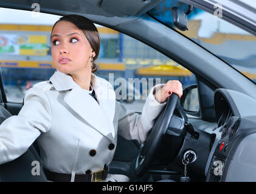
{"label": "white coat sleeve on the arm reaching off the left edge", "polygon": [[43,89],[32,87],[18,115],[0,125],[0,164],[18,158],[33,144],[41,132],[50,129],[50,102]]}

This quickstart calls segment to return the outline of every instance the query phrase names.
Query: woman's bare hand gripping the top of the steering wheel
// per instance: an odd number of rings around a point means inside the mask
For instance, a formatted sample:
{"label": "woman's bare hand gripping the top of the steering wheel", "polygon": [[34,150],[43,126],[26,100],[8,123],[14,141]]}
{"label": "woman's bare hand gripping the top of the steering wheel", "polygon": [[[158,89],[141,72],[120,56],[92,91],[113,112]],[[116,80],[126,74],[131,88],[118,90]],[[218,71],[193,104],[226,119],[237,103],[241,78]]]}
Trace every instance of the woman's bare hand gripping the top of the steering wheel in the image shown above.
{"label": "woman's bare hand gripping the top of the steering wheel", "polygon": [[182,84],[178,80],[169,80],[154,96],[157,102],[165,102],[167,98],[174,92],[179,98],[182,96]]}

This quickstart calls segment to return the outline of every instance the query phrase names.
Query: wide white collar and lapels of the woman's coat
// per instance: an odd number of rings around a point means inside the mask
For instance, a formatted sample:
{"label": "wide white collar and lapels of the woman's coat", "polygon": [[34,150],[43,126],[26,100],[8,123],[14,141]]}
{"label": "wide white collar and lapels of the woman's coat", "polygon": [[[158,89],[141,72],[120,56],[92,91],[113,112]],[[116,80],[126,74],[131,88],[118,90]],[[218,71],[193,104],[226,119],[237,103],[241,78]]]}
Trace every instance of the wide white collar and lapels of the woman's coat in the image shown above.
{"label": "wide white collar and lapels of the woman's coat", "polygon": [[[92,129],[97,130],[110,141],[114,142],[114,112],[116,104],[115,92],[105,79],[91,74],[92,87],[95,90],[96,102],[88,91],[82,89],[75,83],[70,75],[55,72],[50,81],[58,91],[70,90],[64,101],[81,118],[91,125]],[[111,135],[109,136],[109,133]],[[109,138],[110,137],[110,138]]]}

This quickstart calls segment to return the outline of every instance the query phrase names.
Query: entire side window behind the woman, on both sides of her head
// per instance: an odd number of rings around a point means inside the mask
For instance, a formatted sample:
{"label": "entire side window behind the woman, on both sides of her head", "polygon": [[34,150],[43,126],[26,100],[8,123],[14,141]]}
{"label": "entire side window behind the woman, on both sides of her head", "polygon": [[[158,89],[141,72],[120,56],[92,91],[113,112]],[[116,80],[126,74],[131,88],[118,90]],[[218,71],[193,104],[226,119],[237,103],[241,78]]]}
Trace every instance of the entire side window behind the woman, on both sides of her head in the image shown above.
{"label": "entire side window behind the woman, on both sides of her head", "polygon": [[[31,12],[7,8],[1,8],[1,15],[5,18],[0,20],[0,67],[5,94],[7,101],[22,103],[28,89],[49,80],[55,72],[50,32],[61,16],[40,13],[40,18],[33,18]],[[8,15],[20,17],[12,20]],[[151,47],[110,28],[96,27],[101,44],[95,74],[111,82],[117,100],[128,109],[141,112],[155,84],[178,79],[185,88],[196,83],[189,70]],[[193,101],[198,99],[190,99],[190,104]]]}

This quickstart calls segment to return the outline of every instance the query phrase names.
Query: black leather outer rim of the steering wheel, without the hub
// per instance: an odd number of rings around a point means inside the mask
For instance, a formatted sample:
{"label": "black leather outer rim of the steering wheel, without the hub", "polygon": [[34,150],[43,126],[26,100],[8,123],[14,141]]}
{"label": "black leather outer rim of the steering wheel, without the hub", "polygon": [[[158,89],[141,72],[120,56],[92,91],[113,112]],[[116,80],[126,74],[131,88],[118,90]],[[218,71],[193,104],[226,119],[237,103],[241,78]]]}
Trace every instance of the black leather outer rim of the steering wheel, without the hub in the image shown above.
{"label": "black leather outer rim of the steering wheel, without the hub", "polygon": [[179,96],[173,93],[168,99],[167,104],[156,119],[145,144],[140,147],[139,155],[136,159],[135,174],[142,176],[150,167],[154,155],[159,148],[161,140],[168,130],[168,127],[176,109]]}

